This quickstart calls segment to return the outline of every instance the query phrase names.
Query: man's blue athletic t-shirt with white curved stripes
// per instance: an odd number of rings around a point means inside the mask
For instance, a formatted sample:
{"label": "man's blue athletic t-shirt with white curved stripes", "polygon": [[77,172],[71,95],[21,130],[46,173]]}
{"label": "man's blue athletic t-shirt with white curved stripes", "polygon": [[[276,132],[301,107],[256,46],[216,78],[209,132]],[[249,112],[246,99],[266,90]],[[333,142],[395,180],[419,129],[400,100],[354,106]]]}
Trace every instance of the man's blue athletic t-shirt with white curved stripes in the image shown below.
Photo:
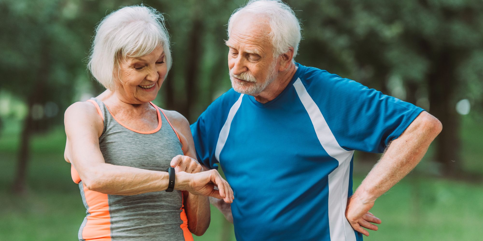
{"label": "man's blue athletic t-shirt with white curved stripes", "polygon": [[238,241],[361,241],[344,214],[354,150],[382,153],[423,109],[297,65],[268,103],[216,99],[191,125],[198,160],[233,188]]}

